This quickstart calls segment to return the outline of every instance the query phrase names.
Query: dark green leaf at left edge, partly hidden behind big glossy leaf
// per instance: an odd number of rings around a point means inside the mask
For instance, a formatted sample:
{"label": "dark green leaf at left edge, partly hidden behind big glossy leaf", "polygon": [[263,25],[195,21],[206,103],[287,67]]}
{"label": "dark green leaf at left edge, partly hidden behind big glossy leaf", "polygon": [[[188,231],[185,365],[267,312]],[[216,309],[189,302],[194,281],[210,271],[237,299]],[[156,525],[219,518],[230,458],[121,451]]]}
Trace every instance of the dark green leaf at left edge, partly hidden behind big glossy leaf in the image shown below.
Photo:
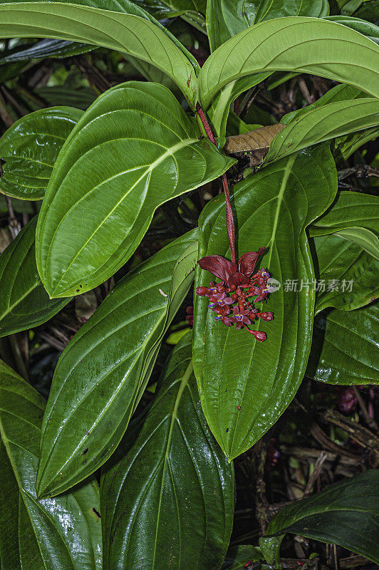
{"label": "dark green leaf at left edge, partly hidden behind big glossy leaf", "polygon": [[0,255],[0,337],[41,325],[70,299],[49,299],[36,266],[36,217]]}

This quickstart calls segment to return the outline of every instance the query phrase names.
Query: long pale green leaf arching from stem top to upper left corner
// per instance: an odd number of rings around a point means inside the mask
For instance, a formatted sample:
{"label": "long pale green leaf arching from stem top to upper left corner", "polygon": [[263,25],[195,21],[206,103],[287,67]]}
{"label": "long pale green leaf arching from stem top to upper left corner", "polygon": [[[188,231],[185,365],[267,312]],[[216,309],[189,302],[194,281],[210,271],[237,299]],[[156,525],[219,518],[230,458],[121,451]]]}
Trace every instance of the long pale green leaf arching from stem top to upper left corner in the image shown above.
{"label": "long pale green leaf arching from stem top to upper left corner", "polygon": [[[119,4],[101,0],[96,5]],[[119,11],[78,6],[90,0],[18,2],[0,4],[0,38],[56,38],[115,49],[148,61],[165,71],[194,108],[197,100],[197,63],[191,54],[138,6],[122,0]]]}

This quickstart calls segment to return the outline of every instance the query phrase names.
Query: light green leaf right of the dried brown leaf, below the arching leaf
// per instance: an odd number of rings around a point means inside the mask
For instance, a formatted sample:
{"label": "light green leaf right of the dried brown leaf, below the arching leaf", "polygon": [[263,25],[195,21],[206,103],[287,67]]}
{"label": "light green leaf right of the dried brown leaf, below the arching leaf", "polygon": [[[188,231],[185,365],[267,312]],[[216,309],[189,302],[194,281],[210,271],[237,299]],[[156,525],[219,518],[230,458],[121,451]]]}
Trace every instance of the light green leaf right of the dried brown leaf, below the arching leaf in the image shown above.
{"label": "light green leaf right of the dried brown leaf, below the arching leaf", "polygon": [[[285,124],[285,119],[281,120]],[[301,113],[271,142],[265,164],[318,142],[379,124],[379,100],[355,99],[328,103]]]}

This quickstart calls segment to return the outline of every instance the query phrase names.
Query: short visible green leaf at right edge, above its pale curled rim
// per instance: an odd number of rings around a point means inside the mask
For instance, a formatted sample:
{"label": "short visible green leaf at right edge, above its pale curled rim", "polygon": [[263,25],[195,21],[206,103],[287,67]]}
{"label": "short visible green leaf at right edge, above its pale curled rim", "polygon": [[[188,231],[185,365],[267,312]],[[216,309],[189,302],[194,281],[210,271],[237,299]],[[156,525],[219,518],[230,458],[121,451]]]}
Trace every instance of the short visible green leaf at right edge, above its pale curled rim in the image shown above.
{"label": "short visible green leaf at right edge, above its pale curled rim", "polygon": [[378,196],[362,192],[338,192],[331,207],[309,227],[309,235],[324,236],[357,226],[378,234],[378,208]]}

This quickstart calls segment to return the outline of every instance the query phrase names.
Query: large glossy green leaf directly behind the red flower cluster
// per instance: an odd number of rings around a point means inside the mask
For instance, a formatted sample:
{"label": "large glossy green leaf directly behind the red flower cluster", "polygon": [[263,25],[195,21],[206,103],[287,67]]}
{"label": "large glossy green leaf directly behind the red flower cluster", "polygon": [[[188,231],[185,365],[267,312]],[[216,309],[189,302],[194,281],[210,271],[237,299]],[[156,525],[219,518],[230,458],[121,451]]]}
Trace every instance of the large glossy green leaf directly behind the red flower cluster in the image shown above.
{"label": "large glossy green leaf directly behind the red flower cluster", "polygon": [[[230,459],[259,440],[291,402],[311,346],[314,291],[287,291],[287,280],[314,279],[306,226],[336,194],[336,170],[327,145],[274,163],[234,186],[239,255],[267,247],[261,264],[281,284],[267,309],[263,343],[246,331],[215,322],[195,296],[194,371],[204,414]],[[199,257],[229,256],[222,197],[200,218]],[[197,270],[196,284],[211,276]],[[260,326],[260,325],[257,325]],[[254,328],[256,328],[254,326]]]}

